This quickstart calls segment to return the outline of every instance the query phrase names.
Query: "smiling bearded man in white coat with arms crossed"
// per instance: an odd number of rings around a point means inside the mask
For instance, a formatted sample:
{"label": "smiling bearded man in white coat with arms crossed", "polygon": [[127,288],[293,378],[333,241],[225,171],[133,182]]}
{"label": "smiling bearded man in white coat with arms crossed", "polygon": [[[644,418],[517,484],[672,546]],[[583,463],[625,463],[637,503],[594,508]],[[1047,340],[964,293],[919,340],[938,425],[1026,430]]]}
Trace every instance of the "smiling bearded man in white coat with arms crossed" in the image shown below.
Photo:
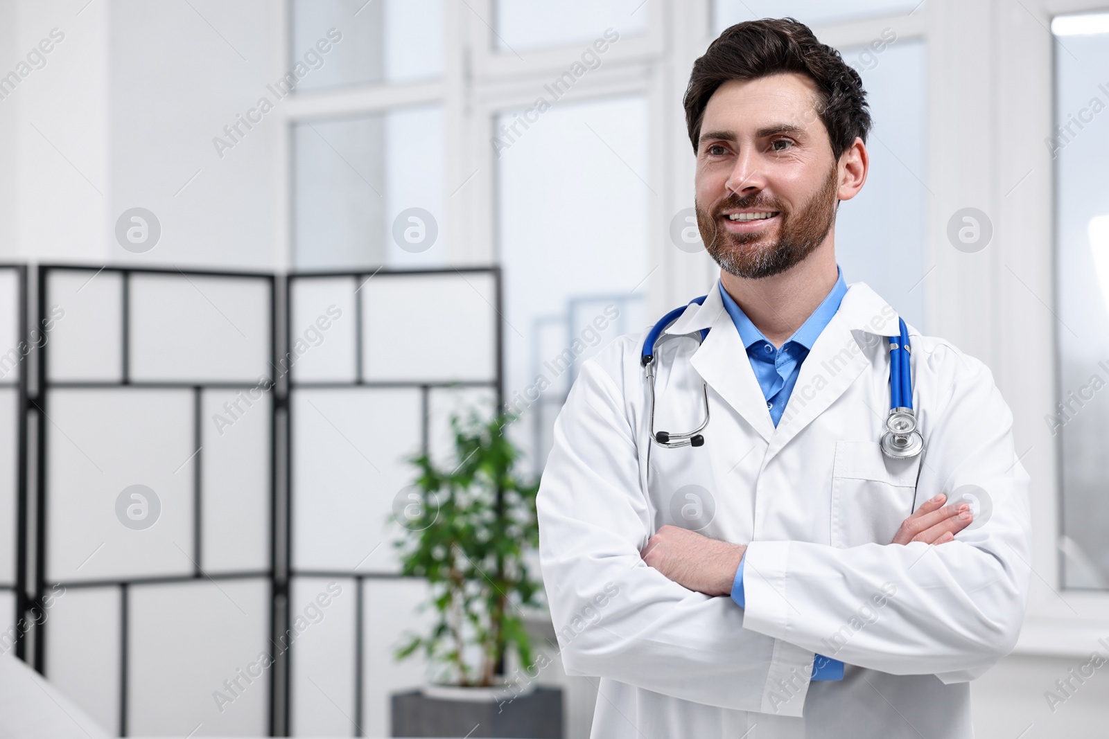
{"label": "smiling bearded man in white coat with arms crossed", "polygon": [[[968,681],[1024,614],[1028,476],[989,370],[912,328],[924,450],[882,451],[898,317],[835,261],[862,81],[753,21],[693,65],[685,112],[720,281],[649,352],[653,408],[642,336],[583,365],[539,491],[563,665],[601,678],[592,736],[969,738]],[[652,438],[705,410],[703,444]]]}

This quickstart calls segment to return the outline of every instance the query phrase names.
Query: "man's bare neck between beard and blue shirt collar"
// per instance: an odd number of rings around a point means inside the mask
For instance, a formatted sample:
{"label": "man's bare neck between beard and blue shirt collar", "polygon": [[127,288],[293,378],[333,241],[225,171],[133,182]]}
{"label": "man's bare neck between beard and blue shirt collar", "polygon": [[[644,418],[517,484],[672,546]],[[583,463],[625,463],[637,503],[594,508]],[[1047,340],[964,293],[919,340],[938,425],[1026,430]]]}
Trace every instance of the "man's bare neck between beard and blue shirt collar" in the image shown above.
{"label": "man's bare neck between beard and blue shirt collar", "polygon": [[775,347],[785,343],[813,315],[837,277],[832,232],[812,254],[784,273],[757,279],[720,273],[724,289]]}

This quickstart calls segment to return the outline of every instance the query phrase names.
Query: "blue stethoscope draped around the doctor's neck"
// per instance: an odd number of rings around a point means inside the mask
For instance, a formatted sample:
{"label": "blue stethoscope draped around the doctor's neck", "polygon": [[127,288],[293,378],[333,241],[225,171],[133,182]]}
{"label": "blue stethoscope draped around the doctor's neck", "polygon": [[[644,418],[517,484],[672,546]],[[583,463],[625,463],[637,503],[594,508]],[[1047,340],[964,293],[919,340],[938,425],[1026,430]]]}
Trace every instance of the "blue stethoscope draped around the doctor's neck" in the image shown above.
{"label": "blue stethoscope draped around the doctor's neck", "polygon": [[[689,305],[694,302],[702,305],[708,296],[693,298]],[[654,360],[655,349],[662,332],[678,320],[678,317],[685,312],[689,306],[674,308],[663,316],[658,324],[651,327],[643,339],[643,350],[640,356],[640,363],[647,372],[647,384],[651,390],[651,438],[655,443],[668,449],[679,447],[702,447],[704,445],[704,434],[702,431],[709,425],[709,387],[704,380],[701,381],[701,403],[704,412],[704,420],[701,425],[683,433],[673,431],[654,430]],[[909,459],[916,456],[924,449],[924,438],[916,430],[916,414],[913,412],[913,370],[909,363],[909,338],[908,328],[905,320],[897,319],[901,329],[899,336],[889,337],[889,414],[886,417],[886,430],[882,434],[881,447],[886,456],[893,459]],[[700,331],[701,341],[709,335],[709,329]],[[667,338],[678,338],[667,337]]]}

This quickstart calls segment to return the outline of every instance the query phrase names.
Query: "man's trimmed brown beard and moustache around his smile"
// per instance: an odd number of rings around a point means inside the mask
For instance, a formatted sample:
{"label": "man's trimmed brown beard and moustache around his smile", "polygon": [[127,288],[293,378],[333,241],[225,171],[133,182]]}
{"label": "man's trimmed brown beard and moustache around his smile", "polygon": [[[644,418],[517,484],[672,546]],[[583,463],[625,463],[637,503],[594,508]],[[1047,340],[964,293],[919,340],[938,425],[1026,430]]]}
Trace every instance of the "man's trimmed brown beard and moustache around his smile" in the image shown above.
{"label": "man's trimmed brown beard and moustache around his smile", "polygon": [[[838,168],[833,164],[821,188],[796,213],[786,211],[777,198],[762,193],[746,197],[731,193],[713,206],[711,214],[696,203],[696,225],[705,249],[721,269],[736,277],[759,279],[785,271],[823,244],[832,229],[837,175]],[[729,233],[721,226],[720,218],[723,211],[732,208],[779,212],[782,223],[777,238],[767,234]]]}

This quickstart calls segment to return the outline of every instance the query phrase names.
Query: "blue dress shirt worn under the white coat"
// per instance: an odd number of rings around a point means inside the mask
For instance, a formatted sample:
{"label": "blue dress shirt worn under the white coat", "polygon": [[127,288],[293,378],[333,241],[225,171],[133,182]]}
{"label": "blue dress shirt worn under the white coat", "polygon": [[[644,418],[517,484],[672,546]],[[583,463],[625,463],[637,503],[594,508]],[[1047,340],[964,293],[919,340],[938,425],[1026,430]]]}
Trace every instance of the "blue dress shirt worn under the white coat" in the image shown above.
{"label": "blue dress shirt worn under the white coat", "polygon": [[[766,337],[762,335],[746,314],[743,312],[732,299],[732,296],[720,285],[720,295],[724,299],[724,309],[732,317],[743,346],[747,348],[747,358],[751,360],[751,369],[755,372],[759,387],[762,388],[766,398],[766,410],[770,412],[774,425],[782,419],[785,404],[790,401],[793,386],[797,383],[797,376],[801,374],[801,363],[805,361],[808,351],[816,342],[816,337],[821,335],[824,327],[828,325],[832,317],[840,309],[840,302],[847,292],[847,284],[843,280],[843,270],[838,267],[838,277],[832,291],[816,307],[816,310],[805,319],[788,341],[775,349]],[[732,599],[742,608],[746,603],[743,595],[743,564],[746,560],[744,553],[740,560],[740,567],[735,571],[735,582],[732,584]],[[822,655],[815,655],[813,660],[813,680],[842,680],[843,663]]]}

